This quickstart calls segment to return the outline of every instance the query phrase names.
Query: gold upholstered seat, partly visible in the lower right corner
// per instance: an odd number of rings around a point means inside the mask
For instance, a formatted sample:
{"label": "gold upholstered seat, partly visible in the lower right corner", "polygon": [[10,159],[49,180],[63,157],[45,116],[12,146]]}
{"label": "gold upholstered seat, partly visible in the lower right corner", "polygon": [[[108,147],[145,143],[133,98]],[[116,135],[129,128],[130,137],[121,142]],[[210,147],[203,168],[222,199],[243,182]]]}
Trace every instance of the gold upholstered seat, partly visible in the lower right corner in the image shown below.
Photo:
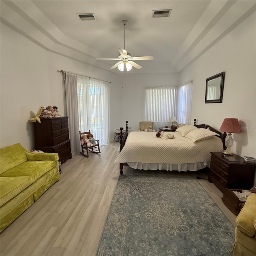
{"label": "gold upholstered seat, partly visible in the lower right corner", "polygon": [[256,194],[248,196],[236,218],[233,256],[256,256]]}

